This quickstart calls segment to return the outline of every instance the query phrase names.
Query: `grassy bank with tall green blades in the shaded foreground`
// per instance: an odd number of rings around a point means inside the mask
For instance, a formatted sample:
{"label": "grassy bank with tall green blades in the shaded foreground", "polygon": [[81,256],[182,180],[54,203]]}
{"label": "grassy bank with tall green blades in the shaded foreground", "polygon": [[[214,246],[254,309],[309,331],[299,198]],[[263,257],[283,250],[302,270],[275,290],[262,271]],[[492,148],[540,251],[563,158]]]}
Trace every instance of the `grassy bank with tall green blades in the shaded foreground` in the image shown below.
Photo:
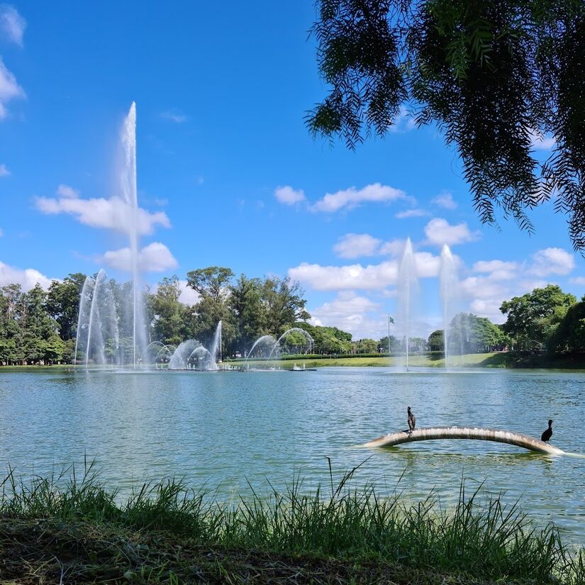
{"label": "grassy bank with tall green blades in the shaded foreground", "polygon": [[[301,482],[235,503],[169,480],[126,503],[91,474],[63,484],[7,478],[0,503],[2,583],[557,584],[585,580],[584,557],[516,506],[460,490],[433,497]],[[61,486],[61,487],[60,487]]]}

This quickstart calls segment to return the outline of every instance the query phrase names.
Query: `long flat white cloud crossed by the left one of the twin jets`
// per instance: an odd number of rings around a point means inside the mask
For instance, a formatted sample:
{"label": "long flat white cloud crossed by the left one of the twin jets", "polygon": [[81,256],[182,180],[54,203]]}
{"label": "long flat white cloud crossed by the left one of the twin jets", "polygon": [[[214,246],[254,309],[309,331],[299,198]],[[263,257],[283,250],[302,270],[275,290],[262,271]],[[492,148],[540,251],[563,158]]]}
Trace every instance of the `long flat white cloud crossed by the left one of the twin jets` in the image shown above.
{"label": "long flat white cloud crossed by the left one of the twin jets", "polygon": [[[437,277],[440,258],[430,252],[416,252],[416,269],[419,277]],[[289,269],[289,277],[317,291],[379,290],[396,284],[398,261],[387,260],[379,264],[347,264],[321,266],[303,262]]]}

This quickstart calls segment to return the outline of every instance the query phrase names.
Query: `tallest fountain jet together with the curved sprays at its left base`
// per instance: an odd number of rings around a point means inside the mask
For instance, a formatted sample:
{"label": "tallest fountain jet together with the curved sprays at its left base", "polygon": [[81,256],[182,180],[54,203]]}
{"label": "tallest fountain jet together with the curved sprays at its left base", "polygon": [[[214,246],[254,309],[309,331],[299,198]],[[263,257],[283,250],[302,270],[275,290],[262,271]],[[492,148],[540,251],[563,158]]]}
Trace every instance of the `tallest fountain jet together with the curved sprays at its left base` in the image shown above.
{"label": "tallest fountain jet together with the curved sprays at its left base", "polygon": [[[130,251],[130,274],[132,294],[126,303],[114,302],[111,288],[106,283],[103,270],[96,279],[88,277],[79,300],[77,338],[75,340],[75,363],[78,351],[84,352],[86,367],[91,360],[94,364],[114,362],[118,365],[131,363],[135,368],[141,357],[147,355],[147,332],[144,318],[144,304],[138,266],[138,194],[136,186],[136,104],[132,103],[121,131],[122,160],[119,175],[120,199],[126,204],[126,233]],[[131,321],[132,355],[130,360],[119,353],[119,330],[122,321]],[[113,340],[113,341],[112,341]],[[115,347],[116,360],[106,359],[106,344],[109,352]],[[111,358],[111,356],[110,356]]]}

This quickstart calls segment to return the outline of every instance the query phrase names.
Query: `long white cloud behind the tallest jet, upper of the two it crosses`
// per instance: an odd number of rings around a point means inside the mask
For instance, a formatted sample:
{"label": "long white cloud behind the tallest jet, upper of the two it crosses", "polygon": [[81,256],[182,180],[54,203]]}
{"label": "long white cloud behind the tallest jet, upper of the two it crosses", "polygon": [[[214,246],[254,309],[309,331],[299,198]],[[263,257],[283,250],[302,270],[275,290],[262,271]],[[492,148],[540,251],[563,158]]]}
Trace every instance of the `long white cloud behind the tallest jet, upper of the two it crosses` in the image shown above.
{"label": "long white cloud behind the tallest jet, upper of the two it crosses", "polygon": [[[132,219],[133,208],[119,197],[104,199],[81,199],[79,193],[68,185],[60,185],[57,189],[57,198],[39,197],[36,206],[41,213],[56,215],[69,213],[79,223],[92,228],[109,228],[123,233],[128,232],[128,225]],[[167,214],[158,211],[150,213],[138,208],[136,213],[138,233],[145,235],[154,231],[155,225],[170,227]]]}

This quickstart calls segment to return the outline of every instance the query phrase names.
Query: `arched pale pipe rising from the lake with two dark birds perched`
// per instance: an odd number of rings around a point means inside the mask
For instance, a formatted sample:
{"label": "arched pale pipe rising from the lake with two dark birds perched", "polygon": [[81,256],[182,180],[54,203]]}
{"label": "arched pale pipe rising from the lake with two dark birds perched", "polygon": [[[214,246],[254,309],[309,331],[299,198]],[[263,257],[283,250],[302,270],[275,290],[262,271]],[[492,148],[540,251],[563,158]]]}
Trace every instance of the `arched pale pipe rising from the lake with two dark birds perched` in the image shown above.
{"label": "arched pale pipe rising from the lake with two dark birds perched", "polygon": [[408,430],[401,430],[398,433],[383,435],[377,439],[367,442],[364,447],[391,447],[401,445],[405,442],[429,441],[439,439],[472,439],[480,441],[494,441],[516,445],[530,451],[547,453],[548,455],[564,455],[564,451],[549,445],[546,442],[524,435],[513,433],[510,430],[481,427],[431,427],[419,428],[408,433]]}

